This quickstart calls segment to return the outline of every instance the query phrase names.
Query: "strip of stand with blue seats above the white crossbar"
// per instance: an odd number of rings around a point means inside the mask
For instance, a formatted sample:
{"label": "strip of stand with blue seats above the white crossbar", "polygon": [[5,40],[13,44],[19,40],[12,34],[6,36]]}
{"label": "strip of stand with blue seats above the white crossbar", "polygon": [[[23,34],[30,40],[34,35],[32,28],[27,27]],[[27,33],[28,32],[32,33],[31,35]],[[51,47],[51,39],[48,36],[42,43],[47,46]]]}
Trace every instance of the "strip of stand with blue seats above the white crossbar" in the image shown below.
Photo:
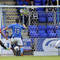
{"label": "strip of stand with blue seats above the white crossbar", "polygon": [[38,5],[57,5],[56,0],[3,0],[3,1],[0,0],[0,4],[2,5],[37,5],[37,6]]}

